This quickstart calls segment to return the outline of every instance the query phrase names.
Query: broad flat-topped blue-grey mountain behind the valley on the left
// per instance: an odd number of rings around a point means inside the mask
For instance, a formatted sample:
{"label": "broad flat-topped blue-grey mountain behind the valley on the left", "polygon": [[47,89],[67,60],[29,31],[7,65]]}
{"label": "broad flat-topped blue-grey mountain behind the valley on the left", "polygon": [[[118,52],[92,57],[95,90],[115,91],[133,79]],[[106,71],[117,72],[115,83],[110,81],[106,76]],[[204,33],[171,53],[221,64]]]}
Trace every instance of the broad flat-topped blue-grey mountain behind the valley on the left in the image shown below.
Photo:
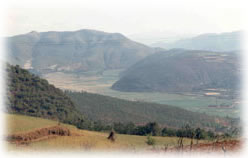
{"label": "broad flat-topped blue-grey mountain behind the valley on the left", "polygon": [[94,30],[30,32],[7,38],[12,64],[38,72],[127,68],[154,52],[119,33]]}

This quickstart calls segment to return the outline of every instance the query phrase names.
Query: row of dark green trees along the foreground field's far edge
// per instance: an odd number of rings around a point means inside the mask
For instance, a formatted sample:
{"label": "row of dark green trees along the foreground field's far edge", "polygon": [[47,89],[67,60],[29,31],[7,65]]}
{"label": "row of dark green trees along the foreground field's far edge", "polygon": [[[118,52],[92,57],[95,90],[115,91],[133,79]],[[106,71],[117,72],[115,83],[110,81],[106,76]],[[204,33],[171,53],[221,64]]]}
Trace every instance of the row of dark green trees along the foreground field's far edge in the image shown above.
{"label": "row of dark green trees along the foreground field's far edge", "polygon": [[[80,127],[79,127],[80,128]],[[166,137],[184,137],[184,138],[194,138],[194,139],[214,139],[217,134],[211,130],[205,130],[202,128],[192,128],[189,125],[185,125],[179,129],[163,127],[161,128],[156,122],[149,122],[145,125],[135,125],[132,122],[129,123],[113,123],[106,125],[100,121],[92,122],[90,126],[83,127],[84,129],[93,131],[110,131],[114,130],[119,134],[128,135],[140,135],[140,136],[166,136]],[[231,136],[227,133],[223,134],[225,136]]]}

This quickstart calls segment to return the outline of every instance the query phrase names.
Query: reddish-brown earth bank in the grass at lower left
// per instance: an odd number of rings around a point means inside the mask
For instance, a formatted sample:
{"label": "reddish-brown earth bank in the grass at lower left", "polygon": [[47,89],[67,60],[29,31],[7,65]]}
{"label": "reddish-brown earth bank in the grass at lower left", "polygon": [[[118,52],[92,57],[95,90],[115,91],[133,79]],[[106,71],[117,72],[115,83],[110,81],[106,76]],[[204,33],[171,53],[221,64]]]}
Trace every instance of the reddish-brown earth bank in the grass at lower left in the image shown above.
{"label": "reddish-brown earth bank in the grass at lower left", "polygon": [[8,135],[7,141],[16,144],[28,144],[30,142],[50,139],[56,136],[72,136],[72,135],[76,136],[77,134],[72,133],[66,127],[52,126],[52,127],[40,128],[27,133]]}

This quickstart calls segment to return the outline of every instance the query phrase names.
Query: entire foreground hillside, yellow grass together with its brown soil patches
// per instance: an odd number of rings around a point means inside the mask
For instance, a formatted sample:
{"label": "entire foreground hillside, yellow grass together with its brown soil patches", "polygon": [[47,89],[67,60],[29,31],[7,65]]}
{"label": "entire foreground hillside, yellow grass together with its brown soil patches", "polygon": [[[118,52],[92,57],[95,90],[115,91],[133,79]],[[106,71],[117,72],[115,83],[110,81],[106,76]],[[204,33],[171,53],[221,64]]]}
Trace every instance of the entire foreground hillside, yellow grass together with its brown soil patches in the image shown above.
{"label": "entire foreground hillside, yellow grass together with its brown soil patches", "polygon": [[[177,137],[158,137],[154,136],[153,146],[149,146],[146,141],[146,136],[131,136],[116,134],[114,142],[107,139],[108,133],[91,132],[87,130],[78,130],[75,127],[67,124],[58,125],[56,121],[35,118],[24,115],[4,114],[7,121],[5,136],[19,136],[30,138],[28,140],[11,141],[8,139],[7,149],[9,151],[126,151],[126,152],[180,152],[191,151],[190,139],[184,138],[184,149],[178,148]],[[31,137],[31,133],[44,131],[45,129],[59,128],[60,130],[68,130],[69,135],[54,133],[43,135],[43,137]],[[36,135],[38,136],[38,135]],[[19,138],[20,140],[20,138]],[[214,141],[199,140],[198,145],[196,140],[193,141],[192,151],[206,152],[222,152],[222,141],[213,145]],[[229,143],[230,142],[230,143]],[[231,144],[233,143],[233,144]],[[222,144],[222,145],[221,145]],[[238,140],[225,141],[226,150],[233,151],[241,148]]]}

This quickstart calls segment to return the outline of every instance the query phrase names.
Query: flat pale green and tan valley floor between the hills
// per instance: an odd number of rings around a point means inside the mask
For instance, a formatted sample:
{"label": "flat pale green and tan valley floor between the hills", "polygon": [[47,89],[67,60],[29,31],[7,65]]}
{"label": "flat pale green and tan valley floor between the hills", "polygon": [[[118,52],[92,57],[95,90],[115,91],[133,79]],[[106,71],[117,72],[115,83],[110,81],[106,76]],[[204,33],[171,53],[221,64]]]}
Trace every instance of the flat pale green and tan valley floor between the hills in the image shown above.
{"label": "flat pale green and tan valley floor between the hills", "polygon": [[181,107],[194,112],[207,113],[222,117],[239,117],[240,105],[231,108],[208,107],[209,105],[227,104],[232,105],[237,100],[216,99],[214,96],[204,96],[202,94],[170,94],[159,92],[120,92],[111,89],[112,84],[118,80],[122,70],[104,71],[102,75],[94,73],[66,74],[62,72],[50,73],[42,76],[49,83],[61,89],[73,91],[87,91],[106,96],[112,96],[131,101],[155,102]]}

